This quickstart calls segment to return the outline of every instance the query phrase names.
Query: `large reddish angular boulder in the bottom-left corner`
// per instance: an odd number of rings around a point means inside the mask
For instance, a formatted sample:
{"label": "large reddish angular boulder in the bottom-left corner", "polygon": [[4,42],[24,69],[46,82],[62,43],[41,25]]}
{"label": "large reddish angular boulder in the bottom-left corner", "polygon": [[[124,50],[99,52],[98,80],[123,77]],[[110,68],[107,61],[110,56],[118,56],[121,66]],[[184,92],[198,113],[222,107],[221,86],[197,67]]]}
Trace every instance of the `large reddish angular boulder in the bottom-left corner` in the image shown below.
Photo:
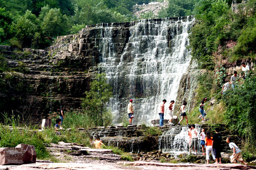
{"label": "large reddish angular boulder in the bottom-left corner", "polygon": [[35,163],[35,147],[29,144],[19,144],[16,147],[0,148],[0,164],[30,164]]}

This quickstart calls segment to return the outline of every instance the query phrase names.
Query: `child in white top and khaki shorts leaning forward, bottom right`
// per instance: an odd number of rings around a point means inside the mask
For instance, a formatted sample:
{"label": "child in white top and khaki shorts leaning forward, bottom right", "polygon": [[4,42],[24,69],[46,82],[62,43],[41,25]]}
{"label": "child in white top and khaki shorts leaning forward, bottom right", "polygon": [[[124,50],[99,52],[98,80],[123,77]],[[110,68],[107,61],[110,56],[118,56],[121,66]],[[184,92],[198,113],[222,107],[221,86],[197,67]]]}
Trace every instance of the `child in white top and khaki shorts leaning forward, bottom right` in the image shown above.
{"label": "child in white top and khaki shorts leaning forward, bottom right", "polygon": [[233,151],[233,155],[230,156],[230,161],[236,164],[236,160],[247,165],[247,163],[242,159],[241,150],[236,146],[234,142],[231,141],[230,137],[226,139],[226,142],[229,144],[230,149]]}

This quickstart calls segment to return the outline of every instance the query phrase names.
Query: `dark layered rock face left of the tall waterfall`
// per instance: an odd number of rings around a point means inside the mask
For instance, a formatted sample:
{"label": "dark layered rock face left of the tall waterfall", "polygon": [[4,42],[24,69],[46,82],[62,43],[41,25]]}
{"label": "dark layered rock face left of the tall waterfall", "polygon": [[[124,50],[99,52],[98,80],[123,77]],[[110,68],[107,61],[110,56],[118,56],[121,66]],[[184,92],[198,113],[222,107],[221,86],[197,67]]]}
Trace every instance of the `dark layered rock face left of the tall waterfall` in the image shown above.
{"label": "dark layered rock face left of the tall waterfall", "polygon": [[89,68],[97,62],[93,56],[79,58],[68,53],[58,57],[55,51],[26,48],[15,52],[7,48],[0,54],[13,70],[0,73],[1,112],[17,111],[33,124],[41,124],[60,105],[79,108],[94,74]]}

